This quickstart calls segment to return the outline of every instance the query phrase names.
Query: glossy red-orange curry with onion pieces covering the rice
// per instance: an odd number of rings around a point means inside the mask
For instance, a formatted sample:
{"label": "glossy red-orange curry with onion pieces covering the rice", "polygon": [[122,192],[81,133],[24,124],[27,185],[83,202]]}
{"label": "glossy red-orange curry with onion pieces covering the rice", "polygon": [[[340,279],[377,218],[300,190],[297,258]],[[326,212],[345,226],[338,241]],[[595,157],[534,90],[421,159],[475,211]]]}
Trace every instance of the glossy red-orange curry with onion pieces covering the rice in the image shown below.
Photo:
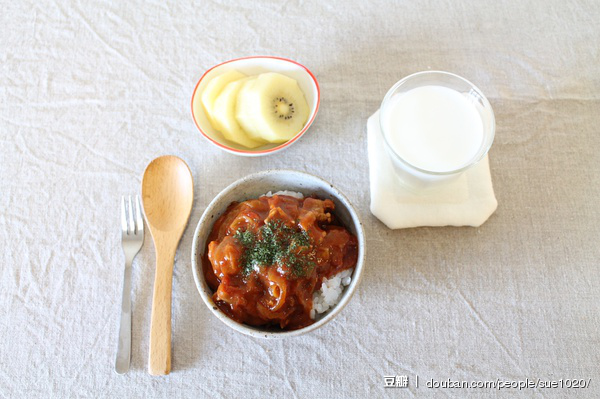
{"label": "glossy red-orange curry with onion pieces covering the rice", "polygon": [[[333,209],[329,199],[287,195],[229,205],[213,226],[202,262],[217,306],[252,326],[294,330],[312,324],[313,293],[324,278],[353,268],[358,258],[356,237],[340,225]],[[240,233],[260,241],[267,238],[265,228],[273,226],[281,242],[286,235],[300,238],[282,248],[295,263],[286,256],[272,264],[250,262],[255,247],[246,245]]]}

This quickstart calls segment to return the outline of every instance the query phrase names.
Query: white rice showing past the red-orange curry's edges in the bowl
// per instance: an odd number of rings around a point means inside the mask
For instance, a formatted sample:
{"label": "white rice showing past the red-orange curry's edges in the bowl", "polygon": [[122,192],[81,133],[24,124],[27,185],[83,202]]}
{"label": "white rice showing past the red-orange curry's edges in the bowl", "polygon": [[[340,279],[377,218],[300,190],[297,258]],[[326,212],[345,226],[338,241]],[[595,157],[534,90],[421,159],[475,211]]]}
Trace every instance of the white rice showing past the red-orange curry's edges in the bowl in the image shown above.
{"label": "white rice showing past the red-orange curry's edges in the bowl", "polygon": [[[274,195],[288,195],[294,198],[304,198],[302,193],[295,191],[269,191],[264,196],[272,197]],[[313,293],[313,308],[310,311],[310,318],[315,319],[317,315],[332,309],[340,301],[344,287],[352,282],[352,272],[354,269],[344,270],[329,279],[323,279],[321,289]]]}

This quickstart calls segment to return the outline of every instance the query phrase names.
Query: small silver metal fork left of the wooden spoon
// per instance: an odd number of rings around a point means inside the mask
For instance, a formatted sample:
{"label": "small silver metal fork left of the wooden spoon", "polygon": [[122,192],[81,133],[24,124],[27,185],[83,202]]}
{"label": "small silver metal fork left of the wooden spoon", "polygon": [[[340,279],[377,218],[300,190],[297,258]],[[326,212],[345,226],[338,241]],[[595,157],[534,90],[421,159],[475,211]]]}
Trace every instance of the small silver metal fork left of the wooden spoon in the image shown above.
{"label": "small silver metal fork left of the wooden spoon", "polygon": [[131,264],[144,243],[144,221],[140,197],[135,196],[135,209],[131,200],[121,197],[121,241],[125,253],[125,276],[123,278],[123,302],[115,371],[125,374],[131,361]]}

